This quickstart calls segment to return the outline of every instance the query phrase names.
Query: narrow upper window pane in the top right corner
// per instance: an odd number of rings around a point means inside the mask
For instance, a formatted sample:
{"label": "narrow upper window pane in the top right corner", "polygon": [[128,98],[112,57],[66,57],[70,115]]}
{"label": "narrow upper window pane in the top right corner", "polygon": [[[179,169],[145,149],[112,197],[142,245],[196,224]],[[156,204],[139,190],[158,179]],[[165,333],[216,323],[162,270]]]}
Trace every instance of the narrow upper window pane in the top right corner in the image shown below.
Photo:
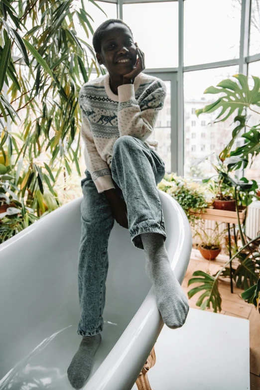
{"label": "narrow upper window pane in the top right corner", "polygon": [[260,53],[260,0],[252,0],[249,55]]}

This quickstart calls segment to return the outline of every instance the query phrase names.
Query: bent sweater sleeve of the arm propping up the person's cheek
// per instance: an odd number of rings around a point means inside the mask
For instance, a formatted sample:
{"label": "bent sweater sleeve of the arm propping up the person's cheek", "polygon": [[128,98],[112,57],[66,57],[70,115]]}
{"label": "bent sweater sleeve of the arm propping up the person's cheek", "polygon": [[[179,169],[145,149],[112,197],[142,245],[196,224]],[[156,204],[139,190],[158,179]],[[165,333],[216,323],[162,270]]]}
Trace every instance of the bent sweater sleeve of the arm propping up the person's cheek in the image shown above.
{"label": "bent sweater sleeve of the arm propping up the person's cheek", "polygon": [[146,97],[137,103],[133,84],[118,87],[118,126],[120,136],[131,135],[145,141],[155,127],[159,111],[163,108],[166,87],[163,81],[155,80],[148,87]]}

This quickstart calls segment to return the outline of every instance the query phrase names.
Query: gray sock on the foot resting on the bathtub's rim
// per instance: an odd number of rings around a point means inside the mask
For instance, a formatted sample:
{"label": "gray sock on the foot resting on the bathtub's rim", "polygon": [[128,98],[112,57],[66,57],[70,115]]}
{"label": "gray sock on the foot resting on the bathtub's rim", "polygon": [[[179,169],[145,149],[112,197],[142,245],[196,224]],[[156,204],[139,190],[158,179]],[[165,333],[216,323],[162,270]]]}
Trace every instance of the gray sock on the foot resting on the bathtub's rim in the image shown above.
{"label": "gray sock on the foot resting on the bathtub's rim", "polygon": [[171,329],[180,328],[189,311],[188,299],[176,278],[158,233],[143,233],[141,240],[146,258],[146,273],[154,284],[156,302],[163,322]]}

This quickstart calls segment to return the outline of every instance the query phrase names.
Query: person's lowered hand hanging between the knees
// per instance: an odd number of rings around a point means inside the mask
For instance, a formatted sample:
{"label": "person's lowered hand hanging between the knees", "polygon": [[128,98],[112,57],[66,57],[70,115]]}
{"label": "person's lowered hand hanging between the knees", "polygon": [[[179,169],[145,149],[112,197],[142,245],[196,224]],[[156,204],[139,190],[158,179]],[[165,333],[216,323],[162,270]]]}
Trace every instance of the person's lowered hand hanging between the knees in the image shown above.
{"label": "person's lowered hand hanging between the knees", "polygon": [[121,198],[114,188],[104,191],[104,194],[110,203],[112,215],[117,223],[128,229],[127,205],[124,199]]}

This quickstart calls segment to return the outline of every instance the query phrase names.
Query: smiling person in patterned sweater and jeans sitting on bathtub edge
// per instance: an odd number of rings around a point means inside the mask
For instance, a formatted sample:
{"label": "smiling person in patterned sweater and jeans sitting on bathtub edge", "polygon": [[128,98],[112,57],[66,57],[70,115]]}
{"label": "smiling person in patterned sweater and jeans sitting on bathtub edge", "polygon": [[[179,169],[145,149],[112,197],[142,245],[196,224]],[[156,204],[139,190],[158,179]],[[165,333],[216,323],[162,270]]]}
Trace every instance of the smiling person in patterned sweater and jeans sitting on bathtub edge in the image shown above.
{"label": "smiling person in patterned sweater and jeans sitting on bathtub edge", "polygon": [[[78,283],[83,336],[69,368],[75,389],[87,380],[101,342],[108,272],[108,239],[116,220],[145,252],[164,323],[181,327],[189,304],[164,246],[164,218],[156,185],[165,168],[148,140],[165,99],[162,80],[142,73],[144,54],[120,19],[102,23],[93,36],[99,64],[108,73],[80,90],[86,178],[81,181],[82,233]],[[156,55],[156,53],[155,53]]]}

